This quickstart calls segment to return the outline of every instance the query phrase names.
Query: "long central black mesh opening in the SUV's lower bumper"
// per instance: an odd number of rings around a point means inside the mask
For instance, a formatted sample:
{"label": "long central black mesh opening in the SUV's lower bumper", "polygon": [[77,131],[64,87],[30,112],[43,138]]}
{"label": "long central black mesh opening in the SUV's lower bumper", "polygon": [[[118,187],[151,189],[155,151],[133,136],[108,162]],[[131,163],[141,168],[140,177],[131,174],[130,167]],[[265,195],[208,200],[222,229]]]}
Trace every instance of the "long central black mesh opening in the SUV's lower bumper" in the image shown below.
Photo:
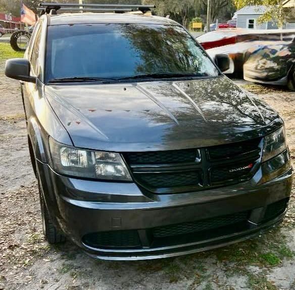
{"label": "long central black mesh opening in the SUV's lower bumper", "polygon": [[154,237],[174,236],[179,234],[188,234],[204,230],[216,229],[223,226],[245,222],[248,218],[248,212],[239,212],[231,215],[209,218],[201,221],[186,222],[174,225],[156,227],[153,230]]}

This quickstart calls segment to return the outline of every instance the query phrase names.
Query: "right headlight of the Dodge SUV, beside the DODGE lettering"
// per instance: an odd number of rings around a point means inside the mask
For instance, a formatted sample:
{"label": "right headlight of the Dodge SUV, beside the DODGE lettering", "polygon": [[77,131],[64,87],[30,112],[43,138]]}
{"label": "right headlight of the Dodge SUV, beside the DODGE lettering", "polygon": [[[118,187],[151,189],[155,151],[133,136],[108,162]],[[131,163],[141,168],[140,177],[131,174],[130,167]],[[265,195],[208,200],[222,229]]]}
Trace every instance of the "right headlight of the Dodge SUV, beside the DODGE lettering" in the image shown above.
{"label": "right headlight of the Dodge SUV, beside the DODGE lettering", "polygon": [[285,128],[282,126],[275,132],[265,136],[262,162],[277,156],[286,150],[286,148]]}

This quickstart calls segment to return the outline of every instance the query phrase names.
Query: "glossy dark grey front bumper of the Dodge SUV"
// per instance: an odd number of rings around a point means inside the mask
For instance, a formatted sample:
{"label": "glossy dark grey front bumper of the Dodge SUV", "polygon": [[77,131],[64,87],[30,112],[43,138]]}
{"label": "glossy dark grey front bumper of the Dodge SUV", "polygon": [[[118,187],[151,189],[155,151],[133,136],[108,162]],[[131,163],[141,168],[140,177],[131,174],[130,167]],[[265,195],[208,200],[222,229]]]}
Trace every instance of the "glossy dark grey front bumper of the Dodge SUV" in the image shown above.
{"label": "glossy dark grey front bumper of the Dodge SUV", "polygon": [[[144,192],[135,183],[64,177],[40,162],[38,169],[54,223],[79,247],[94,258],[142,260],[222,247],[280,222],[290,195],[292,169],[288,161],[273,171],[274,160],[262,165],[247,182],[172,195]],[[245,218],[232,222],[237,216]],[[202,230],[191,230],[199,225]],[[139,244],[132,244],[133,236],[126,238],[125,233],[130,236],[131,232]],[[101,240],[109,240],[113,233],[111,247],[95,246],[86,238],[103,234]]]}

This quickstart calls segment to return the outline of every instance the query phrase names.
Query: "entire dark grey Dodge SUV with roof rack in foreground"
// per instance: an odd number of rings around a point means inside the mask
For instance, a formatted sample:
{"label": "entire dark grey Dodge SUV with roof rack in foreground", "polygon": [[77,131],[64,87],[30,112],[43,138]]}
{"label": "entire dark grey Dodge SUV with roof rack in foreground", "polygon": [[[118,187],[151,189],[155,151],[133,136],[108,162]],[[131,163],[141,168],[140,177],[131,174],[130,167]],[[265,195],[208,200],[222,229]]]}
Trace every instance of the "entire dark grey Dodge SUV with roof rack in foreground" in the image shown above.
{"label": "entire dark grey Dodge SUV with roof rack in foreground", "polygon": [[153,259],[279,223],[292,169],[278,113],[221,73],[227,57],[213,63],[146,7],[117,13],[128,7],[45,14],[24,59],[7,61],[21,80],[47,240]]}

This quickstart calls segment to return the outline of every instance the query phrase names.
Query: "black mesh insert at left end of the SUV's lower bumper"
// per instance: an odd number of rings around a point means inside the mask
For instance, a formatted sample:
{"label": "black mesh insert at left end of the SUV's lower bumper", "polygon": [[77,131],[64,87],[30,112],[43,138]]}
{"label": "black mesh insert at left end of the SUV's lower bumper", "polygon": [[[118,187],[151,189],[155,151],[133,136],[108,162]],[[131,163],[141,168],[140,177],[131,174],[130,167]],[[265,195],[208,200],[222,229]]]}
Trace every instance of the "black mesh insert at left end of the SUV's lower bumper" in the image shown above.
{"label": "black mesh insert at left end of the SUV's lower bumper", "polygon": [[114,230],[86,234],[83,243],[92,248],[140,247],[137,230]]}

